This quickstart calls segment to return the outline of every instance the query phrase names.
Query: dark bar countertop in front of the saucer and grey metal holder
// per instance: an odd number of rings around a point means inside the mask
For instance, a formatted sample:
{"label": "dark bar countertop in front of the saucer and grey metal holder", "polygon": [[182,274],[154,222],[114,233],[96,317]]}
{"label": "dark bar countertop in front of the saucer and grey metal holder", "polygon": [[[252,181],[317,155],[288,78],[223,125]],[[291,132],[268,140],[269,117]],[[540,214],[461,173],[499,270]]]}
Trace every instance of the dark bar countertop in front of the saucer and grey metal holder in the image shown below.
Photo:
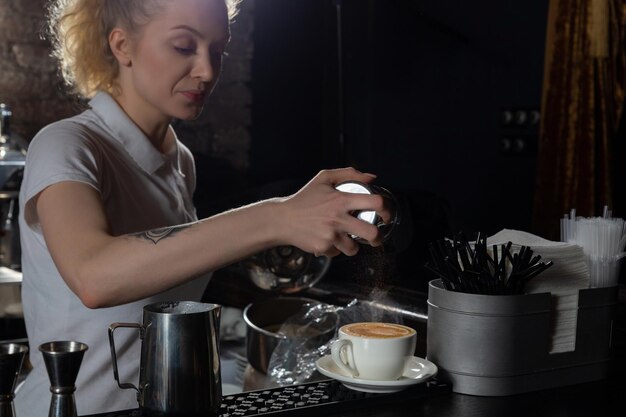
{"label": "dark bar countertop in front of the saucer and grey metal holder", "polygon": [[[410,390],[410,389],[409,389]],[[410,391],[407,391],[410,394]],[[618,417],[626,411],[624,376],[505,397],[479,397],[441,390],[430,396],[378,394],[376,401],[319,405],[309,409],[269,412],[267,416],[325,417]],[[138,410],[90,417],[139,417]],[[227,416],[229,414],[222,414]],[[231,414],[232,415],[232,414]],[[236,414],[235,414],[236,415]],[[248,414],[255,415],[255,414]],[[207,416],[208,417],[208,416]]]}

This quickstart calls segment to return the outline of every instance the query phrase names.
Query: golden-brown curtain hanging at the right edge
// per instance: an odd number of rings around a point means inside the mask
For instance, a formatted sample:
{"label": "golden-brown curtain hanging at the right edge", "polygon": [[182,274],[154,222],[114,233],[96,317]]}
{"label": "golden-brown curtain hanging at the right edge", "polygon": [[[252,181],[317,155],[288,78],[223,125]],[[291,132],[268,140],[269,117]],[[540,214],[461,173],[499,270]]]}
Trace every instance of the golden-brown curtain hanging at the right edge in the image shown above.
{"label": "golden-brown curtain hanging at the right edge", "polygon": [[611,149],[624,101],[626,0],[550,0],[533,231],[612,208]]}

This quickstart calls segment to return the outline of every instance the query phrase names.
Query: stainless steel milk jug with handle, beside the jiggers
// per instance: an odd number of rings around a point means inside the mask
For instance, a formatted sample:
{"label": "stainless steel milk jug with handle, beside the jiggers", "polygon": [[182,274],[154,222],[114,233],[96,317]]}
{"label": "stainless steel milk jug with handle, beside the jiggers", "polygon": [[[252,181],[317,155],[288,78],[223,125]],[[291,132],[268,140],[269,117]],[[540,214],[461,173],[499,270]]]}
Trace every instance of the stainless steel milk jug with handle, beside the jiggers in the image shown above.
{"label": "stainless steel milk jug with handle, beside the jiggers", "polygon": [[[219,356],[221,306],[192,301],[162,302],[143,309],[143,324],[113,323],[109,343],[115,380],[137,391],[149,415],[216,414],[222,400]],[[139,329],[139,387],[119,380],[114,331]]]}

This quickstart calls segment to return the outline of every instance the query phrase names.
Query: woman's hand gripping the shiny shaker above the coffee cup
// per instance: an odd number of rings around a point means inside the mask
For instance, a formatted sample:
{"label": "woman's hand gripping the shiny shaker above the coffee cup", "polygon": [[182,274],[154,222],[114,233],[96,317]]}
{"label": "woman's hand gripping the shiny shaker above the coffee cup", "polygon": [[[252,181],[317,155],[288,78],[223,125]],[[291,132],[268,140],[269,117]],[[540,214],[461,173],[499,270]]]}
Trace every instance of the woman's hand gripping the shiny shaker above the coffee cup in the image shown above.
{"label": "woman's hand gripping the shiny shaker above the coffee cup", "polygon": [[387,223],[391,214],[379,195],[341,192],[335,187],[345,181],[370,183],[375,175],[354,168],[320,171],[294,195],[282,200],[277,224],[281,240],[316,256],[355,255],[359,236],[372,246],[382,243],[375,225],[359,220],[354,211],[376,211]]}

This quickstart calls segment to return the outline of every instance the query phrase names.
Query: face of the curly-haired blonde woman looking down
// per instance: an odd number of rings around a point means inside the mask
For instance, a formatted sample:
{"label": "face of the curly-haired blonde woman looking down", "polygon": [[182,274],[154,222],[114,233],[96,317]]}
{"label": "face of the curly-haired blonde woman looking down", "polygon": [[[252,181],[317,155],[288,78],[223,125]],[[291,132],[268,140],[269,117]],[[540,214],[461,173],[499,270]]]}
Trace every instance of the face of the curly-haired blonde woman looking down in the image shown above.
{"label": "face of the curly-haired blonde woman looking down", "polygon": [[194,119],[221,71],[230,37],[227,9],[224,0],[163,4],[131,42],[122,95],[133,112]]}

